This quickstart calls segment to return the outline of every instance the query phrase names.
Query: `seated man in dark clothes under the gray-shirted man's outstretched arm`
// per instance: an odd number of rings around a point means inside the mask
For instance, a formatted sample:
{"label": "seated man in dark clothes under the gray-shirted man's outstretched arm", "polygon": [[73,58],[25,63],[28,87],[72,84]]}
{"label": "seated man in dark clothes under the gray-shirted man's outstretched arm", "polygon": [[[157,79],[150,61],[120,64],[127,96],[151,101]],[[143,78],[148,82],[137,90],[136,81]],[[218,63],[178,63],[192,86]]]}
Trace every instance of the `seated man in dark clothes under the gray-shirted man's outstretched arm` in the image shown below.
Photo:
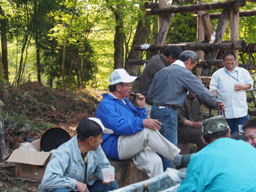
{"label": "seated man in dark clothes under the gray-shirted man's outstretched arm", "polygon": [[[202,83],[201,79],[197,77]],[[196,95],[189,91],[182,107],[177,108],[178,113],[178,141],[180,143],[197,143],[197,151],[205,147],[201,136],[200,123],[203,121],[201,107]]]}

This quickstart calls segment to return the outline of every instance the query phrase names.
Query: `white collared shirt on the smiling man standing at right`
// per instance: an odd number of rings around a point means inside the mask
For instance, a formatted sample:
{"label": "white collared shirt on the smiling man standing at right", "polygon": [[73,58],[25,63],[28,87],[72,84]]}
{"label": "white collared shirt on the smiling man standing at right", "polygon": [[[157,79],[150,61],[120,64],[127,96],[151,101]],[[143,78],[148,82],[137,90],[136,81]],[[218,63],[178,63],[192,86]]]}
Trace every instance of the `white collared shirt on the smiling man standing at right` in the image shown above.
{"label": "white collared shirt on the smiling man standing at right", "polygon": [[210,91],[217,91],[218,99],[225,103],[227,119],[244,117],[248,111],[246,91],[235,91],[235,84],[250,84],[248,91],[253,90],[253,79],[242,67],[235,67],[232,72],[223,67],[211,77]]}

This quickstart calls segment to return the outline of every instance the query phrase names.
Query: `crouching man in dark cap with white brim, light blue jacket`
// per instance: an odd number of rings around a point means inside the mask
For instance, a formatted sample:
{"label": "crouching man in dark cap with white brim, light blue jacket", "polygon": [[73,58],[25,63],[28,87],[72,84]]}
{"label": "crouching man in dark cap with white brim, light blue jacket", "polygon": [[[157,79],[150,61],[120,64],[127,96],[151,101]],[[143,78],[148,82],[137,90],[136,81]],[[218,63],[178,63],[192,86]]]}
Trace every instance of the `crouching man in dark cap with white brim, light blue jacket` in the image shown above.
{"label": "crouching man in dark cap with white brim, light blue jacket", "polygon": [[[117,189],[115,169],[101,149],[103,133],[111,134],[101,120],[83,119],[77,135],[63,143],[51,156],[39,191],[111,191]],[[111,181],[105,181],[102,169],[111,167]],[[91,176],[95,175],[95,179]]]}

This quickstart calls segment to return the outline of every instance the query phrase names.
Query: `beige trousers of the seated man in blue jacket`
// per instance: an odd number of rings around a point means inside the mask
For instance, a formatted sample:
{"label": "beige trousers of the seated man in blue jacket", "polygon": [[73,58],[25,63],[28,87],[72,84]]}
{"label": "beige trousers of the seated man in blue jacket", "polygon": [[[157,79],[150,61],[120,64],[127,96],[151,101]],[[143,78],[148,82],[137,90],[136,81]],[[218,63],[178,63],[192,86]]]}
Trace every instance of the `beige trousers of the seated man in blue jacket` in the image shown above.
{"label": "beige trousers of the seated man in blue jacket", "polygon": [[173,161],[181,150],[159,131],[144,128],[133,135],[121,135],[117,151],[120,160],[132,159],[138,169],[154,177],[163,173],[163,163],[157,153]]}

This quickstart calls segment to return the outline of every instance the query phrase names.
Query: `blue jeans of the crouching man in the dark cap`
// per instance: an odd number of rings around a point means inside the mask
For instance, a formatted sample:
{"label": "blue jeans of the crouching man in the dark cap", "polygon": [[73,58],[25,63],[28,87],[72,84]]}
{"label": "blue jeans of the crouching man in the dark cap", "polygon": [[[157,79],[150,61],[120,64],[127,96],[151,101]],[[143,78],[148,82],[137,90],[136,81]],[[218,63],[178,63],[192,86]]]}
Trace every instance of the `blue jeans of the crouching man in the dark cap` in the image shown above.
{"label": "blue jeans of the crouching man in the dark cap", "polygon": [[[109,186],[104,185],[102,181],[95,181],[93,185],[87,185],[90,192],[107,192],[117,189],[117,181],[114,181]],[[67,188],[54,189],[52,192],[69,192]]]}

